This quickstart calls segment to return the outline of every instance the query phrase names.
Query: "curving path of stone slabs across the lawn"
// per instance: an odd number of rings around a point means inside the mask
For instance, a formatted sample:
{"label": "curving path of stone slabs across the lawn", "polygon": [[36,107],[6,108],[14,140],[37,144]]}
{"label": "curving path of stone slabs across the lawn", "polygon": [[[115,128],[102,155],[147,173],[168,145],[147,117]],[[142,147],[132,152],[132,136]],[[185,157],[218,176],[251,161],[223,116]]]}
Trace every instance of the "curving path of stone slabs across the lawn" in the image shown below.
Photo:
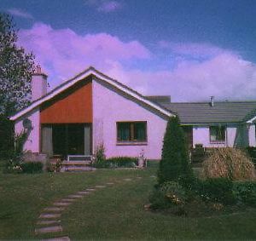
{"label": "curving path of stone slabs across the lawn", "polygon": [[[142,179],[141,176],[137,176],[137,180]],[[68,208],[69,205],[75,203],[80,198],[84,198],[85,196],[90,195],[90,192],[95,192],[96,190],[103,189],[107,186],[113,186],[114,184],[122,183],[123,181],[128,182],[136,180],[131,178],[125,178],[122,181],[115,181],[115,182],[107,182],[106,185],[96,185],[90,188],[86,188],[80,192],[76,192],[73,194],[68,195],[61,200],[55,201],[51,206],[44,209],[44,211],[38,216],[37,226],[35,229],[35,234],[44,236],[50,235],[55,236],[56,238],[45,238],[42,240],[47,241],[69,241],[70,238],[68,236],[61,236],[63,235],[63,227],[61,226],[61,213],[65,209]]]}

